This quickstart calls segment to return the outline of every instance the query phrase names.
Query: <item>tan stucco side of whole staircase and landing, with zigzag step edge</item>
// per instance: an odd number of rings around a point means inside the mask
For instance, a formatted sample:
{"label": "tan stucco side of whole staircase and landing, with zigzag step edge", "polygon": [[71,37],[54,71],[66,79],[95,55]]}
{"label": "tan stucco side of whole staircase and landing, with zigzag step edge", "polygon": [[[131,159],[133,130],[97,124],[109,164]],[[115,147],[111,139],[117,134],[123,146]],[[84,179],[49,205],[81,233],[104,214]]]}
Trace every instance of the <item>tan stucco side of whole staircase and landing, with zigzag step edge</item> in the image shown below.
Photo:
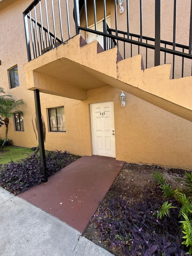
{"label": "tan stucco side of whole staircase and landing, with zigzag step edge", "polygon": [[33,77],[38,68],[68,59],[99,80],[192,121],[192,77],[170,80],[170,64],[142,70],[141,55],[118,62],[117,48],[98,53],[97,41],[82,47],[80,41],[81,36],[77,35],[24,65],[27,89],[38,88]]}

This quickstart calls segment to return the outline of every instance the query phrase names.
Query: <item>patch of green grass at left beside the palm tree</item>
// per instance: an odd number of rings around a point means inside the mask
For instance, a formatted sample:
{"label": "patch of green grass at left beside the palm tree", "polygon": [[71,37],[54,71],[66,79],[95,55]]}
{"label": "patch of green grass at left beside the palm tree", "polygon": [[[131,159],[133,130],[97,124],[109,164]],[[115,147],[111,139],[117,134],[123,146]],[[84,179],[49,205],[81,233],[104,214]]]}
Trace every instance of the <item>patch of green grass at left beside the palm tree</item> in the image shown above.
{"label": "patch of green grass at left beside the palm tree", "polygon": [[6,146],[0,151],[0,164],[7,164],[11,160],[17,162],[19,159],[26,158],[28,156],[27,153],[32,155],[34,151],[30,148]]}

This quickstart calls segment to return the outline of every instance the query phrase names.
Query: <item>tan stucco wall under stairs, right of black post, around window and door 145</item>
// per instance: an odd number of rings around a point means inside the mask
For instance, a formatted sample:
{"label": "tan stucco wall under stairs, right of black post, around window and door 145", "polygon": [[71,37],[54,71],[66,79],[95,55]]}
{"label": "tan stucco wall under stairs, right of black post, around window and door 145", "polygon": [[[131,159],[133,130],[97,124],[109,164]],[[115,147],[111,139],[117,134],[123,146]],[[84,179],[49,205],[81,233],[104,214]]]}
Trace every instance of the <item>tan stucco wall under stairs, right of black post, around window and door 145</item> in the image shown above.
{"label": "tan stucco wall under stairs, right of black post, around window and door 145", "polygon": [[[66,133],[47,132],[45,148],[91,155],[89,104],[114,101],[117,160],[192,169],[192,123],[128,93],[121,107],[120,94],[109,86],[88,91],[85,101],[63,98],[56,107],[65,107]],[[47,106],[55,102],[41,101],[45,118]]]}

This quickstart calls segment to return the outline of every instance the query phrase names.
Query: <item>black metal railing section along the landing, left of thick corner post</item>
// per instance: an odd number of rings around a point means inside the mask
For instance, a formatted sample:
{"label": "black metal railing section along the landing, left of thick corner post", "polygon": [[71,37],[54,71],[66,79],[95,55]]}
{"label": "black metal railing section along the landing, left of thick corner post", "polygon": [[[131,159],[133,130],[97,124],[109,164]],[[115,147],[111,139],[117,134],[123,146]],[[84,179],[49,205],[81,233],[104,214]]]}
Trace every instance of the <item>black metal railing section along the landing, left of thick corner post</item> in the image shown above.
{"label": "black metal railing section along the landing, left of thick corner post", "polygon": [[[63,4],[58,0],[55,11],[53,0],[50,0],[48,4],[47,0],[35,0],[23,12],[28,61],[37,58],[71,38],[68,1],[66,0],[65,2],[65,14],[61,13],[61,3]],[[65,16],[67,22],[62,21],[62,16]],[[63,35],[63,25],[65,26],[66,23],[68,26],[67,34]],[[57,30],[59,28],[60,33],[56,31],[56,28]],[[59,34],[59,38],[56,33]]]}

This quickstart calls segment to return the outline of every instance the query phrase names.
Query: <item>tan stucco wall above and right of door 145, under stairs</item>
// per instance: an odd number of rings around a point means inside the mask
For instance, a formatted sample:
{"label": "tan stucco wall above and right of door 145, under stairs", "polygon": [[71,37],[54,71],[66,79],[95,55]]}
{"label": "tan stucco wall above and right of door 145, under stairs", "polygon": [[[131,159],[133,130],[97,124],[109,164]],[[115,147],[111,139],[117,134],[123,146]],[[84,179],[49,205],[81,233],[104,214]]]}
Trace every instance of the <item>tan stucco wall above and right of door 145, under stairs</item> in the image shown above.
{"label": "tan stucco wall above and right of door 145, under stairs", "polygon": [[192,123],[128,93],[121,107],[120,94],[110,87],[88,91],[89,103],[114,101],[116,159],[191,168]]}

